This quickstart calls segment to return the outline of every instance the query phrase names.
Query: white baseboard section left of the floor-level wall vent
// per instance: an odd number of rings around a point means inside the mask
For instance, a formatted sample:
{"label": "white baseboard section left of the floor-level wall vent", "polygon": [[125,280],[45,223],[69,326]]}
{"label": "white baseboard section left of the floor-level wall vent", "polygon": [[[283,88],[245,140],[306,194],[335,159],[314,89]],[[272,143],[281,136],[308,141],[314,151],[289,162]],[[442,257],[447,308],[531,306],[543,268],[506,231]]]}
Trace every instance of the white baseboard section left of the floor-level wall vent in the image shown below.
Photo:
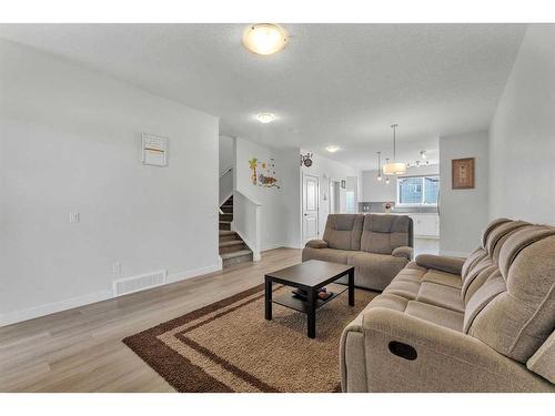
{"label": "white baseboard section left of the floor-level wall vent", "polygon": [[16,324],[18,322],[33,319],[36,317],[54,314],[57,312],[72,310],[74,307],[89,305],[113,297],[111,290],[91,293],[83,296],[70,297],[60,302],[47,303],[46,305],[29,307],[27,310],[10,312],[0,315],[0,326]]}

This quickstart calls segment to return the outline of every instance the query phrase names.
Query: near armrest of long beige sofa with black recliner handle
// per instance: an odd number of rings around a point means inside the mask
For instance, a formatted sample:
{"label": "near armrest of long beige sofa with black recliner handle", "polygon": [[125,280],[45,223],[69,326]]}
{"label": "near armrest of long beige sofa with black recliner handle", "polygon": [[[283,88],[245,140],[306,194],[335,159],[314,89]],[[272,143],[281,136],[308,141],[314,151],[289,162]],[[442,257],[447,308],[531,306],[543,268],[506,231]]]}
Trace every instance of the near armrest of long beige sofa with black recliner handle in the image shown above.
{"label": "near armrest of long beige sofa with black recliner handle", "polygon": [[343,390],[555,392],[471,335],[385,307],[361,315],[342,336]]}

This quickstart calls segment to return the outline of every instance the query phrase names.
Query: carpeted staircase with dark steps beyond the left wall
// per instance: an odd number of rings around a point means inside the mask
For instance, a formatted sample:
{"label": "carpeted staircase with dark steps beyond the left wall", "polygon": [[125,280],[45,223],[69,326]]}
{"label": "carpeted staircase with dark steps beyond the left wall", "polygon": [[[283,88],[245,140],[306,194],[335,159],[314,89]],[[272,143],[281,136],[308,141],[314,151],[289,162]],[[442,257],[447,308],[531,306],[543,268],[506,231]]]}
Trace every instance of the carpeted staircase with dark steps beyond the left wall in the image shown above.
{"label": "carpeted staircase with dark steps beyond the left wall", "polygon": [[233,221],[233,195],[220,206],[220,256],[224,267],[252,262],[252,251],[238,233],[231,231]]}

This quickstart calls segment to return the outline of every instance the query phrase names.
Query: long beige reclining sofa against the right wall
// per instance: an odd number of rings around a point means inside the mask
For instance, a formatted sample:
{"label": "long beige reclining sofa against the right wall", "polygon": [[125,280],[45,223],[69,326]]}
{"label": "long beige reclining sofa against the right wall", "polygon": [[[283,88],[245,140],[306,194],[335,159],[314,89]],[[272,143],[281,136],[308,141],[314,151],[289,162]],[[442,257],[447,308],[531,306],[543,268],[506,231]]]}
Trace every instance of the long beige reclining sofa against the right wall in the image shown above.
{"label": "long beige reclining sofa against the right wall", "polygon": [[344,329],[344,392],[555,392],[555,227],[496,220],[420,255]]}

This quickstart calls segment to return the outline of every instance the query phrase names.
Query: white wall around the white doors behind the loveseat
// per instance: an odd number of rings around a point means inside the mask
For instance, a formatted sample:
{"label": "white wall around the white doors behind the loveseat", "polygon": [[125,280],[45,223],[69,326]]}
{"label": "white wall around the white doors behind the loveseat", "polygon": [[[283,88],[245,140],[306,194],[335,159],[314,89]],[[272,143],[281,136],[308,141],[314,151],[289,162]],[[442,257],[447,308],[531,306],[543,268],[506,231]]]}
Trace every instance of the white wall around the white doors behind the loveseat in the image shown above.
{"label": "white wall around the white doors behind the loveseat", "polygon": [[[302,154],[306,154],[310,150],[301,150]],[[346,181],[347,176],[357,177],[357,186],[360,190],[361,184],[361,172],[354,168],[346,164],[336,162],[334,160],[327,159],[320,154],[314,153],[312,159],[313,164],[310,168],[302,166],[302,174],[310,174],[317,176],[320,180],[320,212],[319,212],[319,234],[322,236],[324,234],[325,222],[327,221],[327,215],[330,214],[330,181],[341,180]],[[302,180],[302,177],[301,177]],[[301,182],[302,183],[302,182]],[[327,201],[324,201],[324,191]],[[346,189],[340,189],[340,211],[345,212],[345,192]],[[356,193],[360,194],[360,191]],[[355,201],[357,205],[359,201]]]}

